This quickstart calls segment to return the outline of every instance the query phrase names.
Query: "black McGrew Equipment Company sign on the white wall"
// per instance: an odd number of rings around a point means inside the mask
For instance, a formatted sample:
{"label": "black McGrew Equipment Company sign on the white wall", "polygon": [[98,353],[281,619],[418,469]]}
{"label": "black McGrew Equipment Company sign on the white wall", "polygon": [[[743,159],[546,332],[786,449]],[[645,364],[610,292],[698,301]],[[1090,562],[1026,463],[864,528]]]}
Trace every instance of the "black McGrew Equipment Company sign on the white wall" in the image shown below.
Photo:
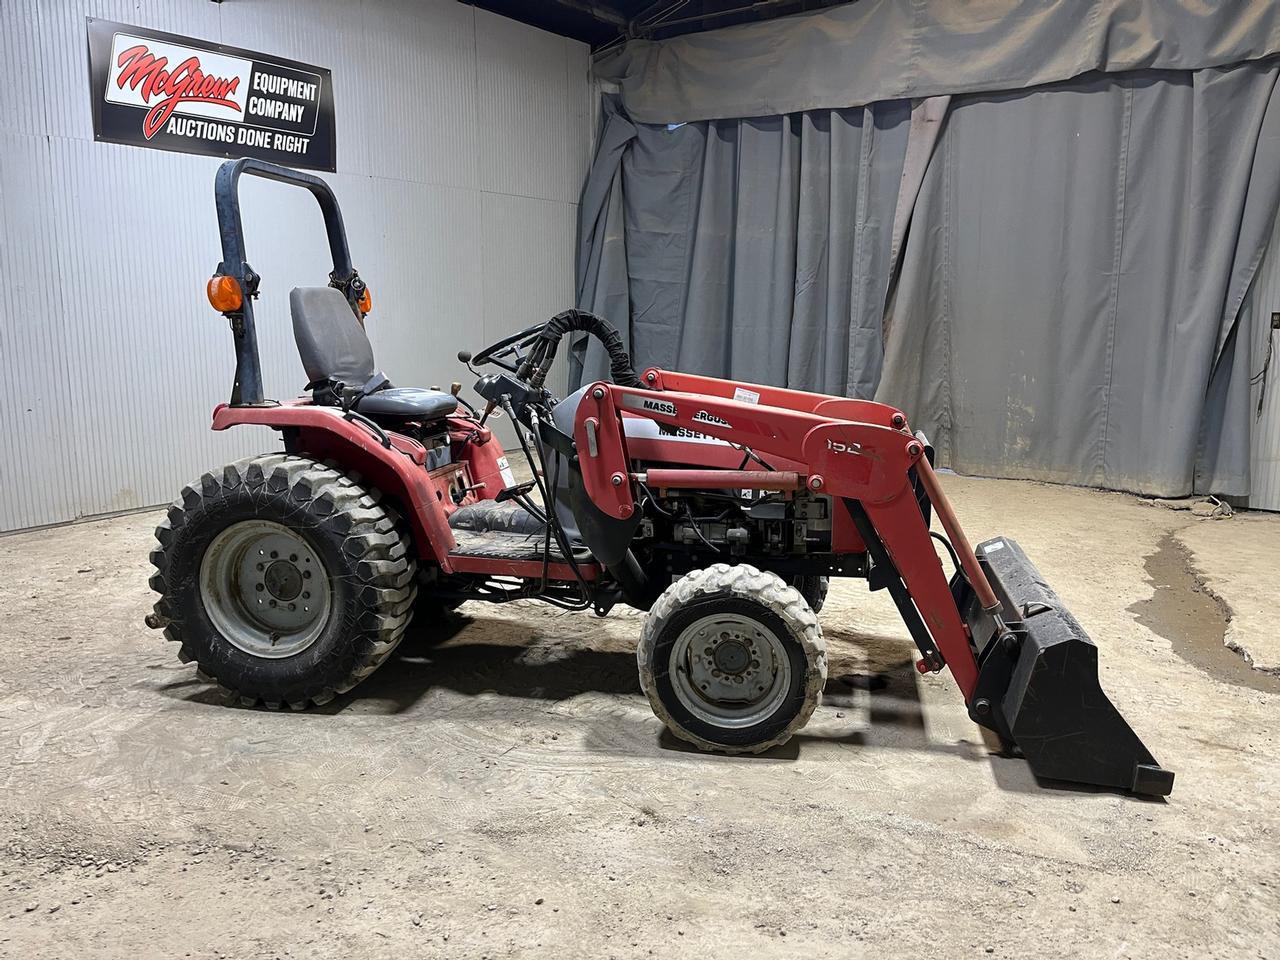
{"label": "black McGrew Equipment Company sign on the white wall", "polygon": [[337,169],[321,67],[92,17],[88,60],[97,140]]}

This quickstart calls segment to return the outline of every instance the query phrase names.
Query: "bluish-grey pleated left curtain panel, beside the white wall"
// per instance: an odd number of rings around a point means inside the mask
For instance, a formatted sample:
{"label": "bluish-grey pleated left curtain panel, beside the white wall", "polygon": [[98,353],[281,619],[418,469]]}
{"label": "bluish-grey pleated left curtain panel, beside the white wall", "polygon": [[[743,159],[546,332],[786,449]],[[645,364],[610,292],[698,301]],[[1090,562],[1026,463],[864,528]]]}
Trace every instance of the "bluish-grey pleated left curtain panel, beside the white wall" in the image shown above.
{"label": "bluish-grey pleated left curtain panel, beside the white wall", "polygon": [[[655,364],[869,397],[883,358],[906,101],[634,124],[607,97],[579,305]],[[573,381],[603,372],[576,347]]]}

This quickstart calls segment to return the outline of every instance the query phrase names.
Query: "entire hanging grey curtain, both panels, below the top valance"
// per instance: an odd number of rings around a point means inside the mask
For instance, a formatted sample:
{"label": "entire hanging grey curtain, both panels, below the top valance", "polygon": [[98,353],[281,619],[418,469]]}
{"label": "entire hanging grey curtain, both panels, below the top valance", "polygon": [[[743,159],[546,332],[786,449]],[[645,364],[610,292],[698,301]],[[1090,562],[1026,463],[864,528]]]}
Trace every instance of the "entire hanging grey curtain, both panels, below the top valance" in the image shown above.
{"label": "entire hanging grey curtain, both panels, below the top valance", "polygon": [[[904,408],[960,472],[1247,495],[1280,59],[605,120],[579,303],[659,365]],[[579,348],[573,384],[605,372]]]}

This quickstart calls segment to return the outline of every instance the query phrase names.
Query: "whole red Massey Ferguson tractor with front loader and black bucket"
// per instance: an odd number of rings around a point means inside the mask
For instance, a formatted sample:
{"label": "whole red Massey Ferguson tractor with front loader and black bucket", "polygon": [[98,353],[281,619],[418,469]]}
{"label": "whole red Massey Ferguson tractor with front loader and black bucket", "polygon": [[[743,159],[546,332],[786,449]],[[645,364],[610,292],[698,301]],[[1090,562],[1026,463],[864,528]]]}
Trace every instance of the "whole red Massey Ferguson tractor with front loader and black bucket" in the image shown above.
{"label": "whole red Massey Ferguson tractor with front loader and black bucket", "polygon": [[[324,212],[329,283],[289,298],[310,379],[300,399],[264,394],[242,174],[303,187]],[[636,659],[658,717],[699,748],[758,753],[822,696],[827,579],[861,577],[890,591],[919,669],[948,668],[973,721],[1037,774],[1170,792],[1174,774],[1098,686],[1097,648],[1016,543],[970,547],[901,411],[637,374],[617,330],[577,310],[458,356],[485,367],[483,410],[456,387],[393,387],[328,184],[237,160],[215,198],[209,297],[237,365],[212,426],[270,426],[284,449],[182,492],[156,530],[148,625],[242,704],[303,709],[351,690],[424,608],[538,599],[605,616],[621,602],[648,611]],[[611,379],[559,399],[545,383],[571,335],[599,340]],[[516,480],[489,428],[498,410],[531,480]]]}

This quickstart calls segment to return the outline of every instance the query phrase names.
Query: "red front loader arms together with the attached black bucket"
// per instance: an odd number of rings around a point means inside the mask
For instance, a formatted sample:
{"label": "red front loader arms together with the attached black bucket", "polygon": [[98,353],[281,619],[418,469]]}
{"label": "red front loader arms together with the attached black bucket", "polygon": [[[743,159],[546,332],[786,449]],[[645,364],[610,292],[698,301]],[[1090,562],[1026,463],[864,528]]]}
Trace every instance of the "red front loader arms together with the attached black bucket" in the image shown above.
{"label": "red front loader arms together with the attached black bucket", "polygon": [[[595,383],[577,408],[573,439],[582,481],[600,511],[627,520],[637,509],[641,476],[631,470],[623,412],[803,463],[799,481],[838,498],[852,515],[876,564],[873,579],[878,568],[879,585],[890,588],[920,646],[920,671],[950,667],[969,716],[1006,750],[1016,746],[1048,778],[1156,796],[1171,791],[1174,774],[1102,692],[1097,648],[1012,540],[973,549],[901,411],[655,367],[641,379],[639,388]],[[700,486],[717,485],[716,471],[690,472]],[[959,562],[950,581],[913,476]],[[754,483],[768,485],[767,477]],[[796,480],[780,471],[778,483]],[[726,475],[722,485],[733,483]],[[1006,552],[996,563],[1000,549]],[[998,591],[988,577],[997,566]]]}

